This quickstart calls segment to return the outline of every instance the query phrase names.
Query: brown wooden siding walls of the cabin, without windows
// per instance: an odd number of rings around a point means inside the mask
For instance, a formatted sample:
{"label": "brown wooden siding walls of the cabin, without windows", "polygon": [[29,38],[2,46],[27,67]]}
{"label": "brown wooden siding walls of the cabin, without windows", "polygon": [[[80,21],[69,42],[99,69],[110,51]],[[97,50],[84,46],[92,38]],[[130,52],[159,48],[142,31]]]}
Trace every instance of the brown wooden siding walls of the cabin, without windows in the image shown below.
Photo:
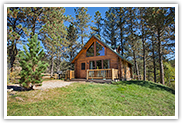
{"label": "brown wooden siding walls of the cabin, without windows", "polygon": [[[100,43],[105,48],[105,56],[93,56],[86,57],[87,49],[92,45],[93,42]],[[94,43],[95,45],[95,43]],[[95,50],[94,50],[95,51]],[[87,69],[89,69],[89,62],[96,60],[109,60],[110,68],[118,69],[118,75],[120,79],[129,80],[132,77],[132,68],[129,67],[127,61],[122,60],[118,55],[116,55],[113,51],[111,51],[108,47],[102,44],[97,38],[92,37],[84,48],[78,53],[78,55],[74,58],[72,62],[75,64],[75,77],[83,78],[81,76],[83,73],[87,73]],[[81,70],[81,63],[85,63],[85,70]]]}

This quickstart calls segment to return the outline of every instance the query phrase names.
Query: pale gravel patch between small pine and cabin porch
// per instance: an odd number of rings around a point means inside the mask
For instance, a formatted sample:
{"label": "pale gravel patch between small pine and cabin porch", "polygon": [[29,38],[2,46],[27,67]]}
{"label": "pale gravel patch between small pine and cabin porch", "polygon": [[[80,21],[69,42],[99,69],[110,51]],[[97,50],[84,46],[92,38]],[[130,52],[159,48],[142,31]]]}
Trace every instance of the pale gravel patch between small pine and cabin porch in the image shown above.
{"label": "pale gravel patch between small pine and cabin porch", "polygon": [[70,85],[74,82],[67,82],[62,80],[49,80],[43,81],[42,86],[35,87],[34,89],[49,89],[49,88],[56,88],[56,87],[64,87]]}

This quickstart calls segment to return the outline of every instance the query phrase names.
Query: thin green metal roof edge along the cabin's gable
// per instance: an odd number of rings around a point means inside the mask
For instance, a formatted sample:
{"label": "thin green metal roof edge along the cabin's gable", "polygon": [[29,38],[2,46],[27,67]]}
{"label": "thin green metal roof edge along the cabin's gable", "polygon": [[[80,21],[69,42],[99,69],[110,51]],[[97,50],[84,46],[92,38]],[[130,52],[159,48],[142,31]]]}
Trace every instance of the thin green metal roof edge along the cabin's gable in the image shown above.
{"label": "thin green metal roof edge along the cabin's gable", "polygon": [[[108,46],[105,42],[103,42],[103,41],[101,41],[101,39],[99,39],[96,35],[92,35],[92,36],[94,36],[95,38],[97,38],[102,44],[104,44],[107,48],[109,48],[112,52],[114,52],[116,55],[118,55],[121,59],[123,59],[123,60],[125,60],[125,61],[127,61],[128,63],[130,63],[131,65],[133,65],[133,63],[131,63],[130,61],[128,61],[125,57],[123,57],[122,55],[120,55],[118,52],[116,52],[116,51],[114,51],[110,46]],[[90,37],[90,39],[92,38],[92,36]],[[89,39],[89,40],[90,40]],[[89,41],[88,40],[88,41]],[[86,42],[85,43],[85,45],[87,44],[88,42]],[[84,45],[84,46],[85,46]],[[83,48],[82,48],[83,49]],[[81,49],[81,50],[82,50]],[[81,52],[81,50],[78,52],[78,53],[80,53]],[[77,56],[77,55],[76,55]],[[76,57],[75,56],[75,57]],[[75,57],[72,59],[72,61],[75,59]]]}

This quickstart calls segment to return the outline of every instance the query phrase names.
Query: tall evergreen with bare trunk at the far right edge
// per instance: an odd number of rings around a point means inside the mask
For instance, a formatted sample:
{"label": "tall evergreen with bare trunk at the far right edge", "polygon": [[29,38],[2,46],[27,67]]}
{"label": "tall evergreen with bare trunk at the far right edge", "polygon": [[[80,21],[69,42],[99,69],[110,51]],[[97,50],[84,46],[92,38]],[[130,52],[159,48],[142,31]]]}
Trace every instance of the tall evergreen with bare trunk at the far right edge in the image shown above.
{"label": "tall evergreen with bare trunk at the far right edge", "polygon": [[[171,40],[174,40],[174,25],[175,25],[175,8],[165,7],[153,7],[150,8],[151,14],[148,19],[148,23],[151,23],[154,27],[157,41],[158,41],[158,54],[159,54],[159,67],[160,67],[160,82],[164,82],[164,68],[163,68],[163,51],[165,46]],[[162,47],[164,45],[164,48]],[[173,43],[169,43],[173,45]]]}

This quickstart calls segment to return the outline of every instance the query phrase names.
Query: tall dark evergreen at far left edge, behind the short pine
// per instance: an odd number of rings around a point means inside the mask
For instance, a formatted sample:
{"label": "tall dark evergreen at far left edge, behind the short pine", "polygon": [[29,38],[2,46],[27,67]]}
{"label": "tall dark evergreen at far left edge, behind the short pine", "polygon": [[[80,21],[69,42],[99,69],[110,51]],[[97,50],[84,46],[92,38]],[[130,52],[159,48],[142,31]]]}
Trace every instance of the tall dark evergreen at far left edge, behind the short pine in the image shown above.
{"label": "tall dark evergreen at far left edge, behind the short pine", "polygon": [[20,37],[24,37],[25,31],[27,31],[21,25],[24,18],[24,13],[19,7],[7,8],[7,60],[10,63],[11,72],[13,72],[15,58],[18,54],[17,44],[22,43]]}

